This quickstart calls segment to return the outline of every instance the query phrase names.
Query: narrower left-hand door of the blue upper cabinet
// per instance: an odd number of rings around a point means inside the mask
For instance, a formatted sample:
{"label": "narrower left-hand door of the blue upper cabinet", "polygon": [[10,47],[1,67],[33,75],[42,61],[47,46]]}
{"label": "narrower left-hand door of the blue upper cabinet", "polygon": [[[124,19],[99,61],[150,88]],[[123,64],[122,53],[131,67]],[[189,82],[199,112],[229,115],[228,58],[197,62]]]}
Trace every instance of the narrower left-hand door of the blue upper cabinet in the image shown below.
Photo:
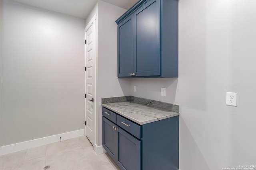
{"label": "narrower left-hand door of the blue upper cabinet", "polygon": [[118,24],[118,77],[133,73],[133,16]]}

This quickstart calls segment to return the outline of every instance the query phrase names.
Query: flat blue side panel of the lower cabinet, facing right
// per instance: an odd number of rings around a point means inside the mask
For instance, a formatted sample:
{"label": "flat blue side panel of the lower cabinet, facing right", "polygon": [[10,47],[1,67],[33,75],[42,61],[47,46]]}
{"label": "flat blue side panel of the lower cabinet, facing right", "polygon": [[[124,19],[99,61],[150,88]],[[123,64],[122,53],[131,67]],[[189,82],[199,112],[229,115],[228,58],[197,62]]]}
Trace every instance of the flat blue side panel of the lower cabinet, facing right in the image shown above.
{"label": "flat blue side panel of the lower cabinet, facing right", "polygon": [[179,170],[179,117],[142,126],[142,169]]}

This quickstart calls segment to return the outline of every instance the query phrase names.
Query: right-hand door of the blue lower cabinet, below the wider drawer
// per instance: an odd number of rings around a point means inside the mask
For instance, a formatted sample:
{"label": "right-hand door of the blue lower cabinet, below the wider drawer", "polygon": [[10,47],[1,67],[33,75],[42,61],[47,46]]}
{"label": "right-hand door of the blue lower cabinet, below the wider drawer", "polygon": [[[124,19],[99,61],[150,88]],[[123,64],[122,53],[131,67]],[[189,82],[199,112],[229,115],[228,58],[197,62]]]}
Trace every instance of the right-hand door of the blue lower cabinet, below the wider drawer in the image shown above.
{"label": "right-hand door of the blue lower cabinet, below the wider drawer", "polygon": [[141,141],[119,128],[116,143],[116,163],[118,166],[122,170],[140,170]]}

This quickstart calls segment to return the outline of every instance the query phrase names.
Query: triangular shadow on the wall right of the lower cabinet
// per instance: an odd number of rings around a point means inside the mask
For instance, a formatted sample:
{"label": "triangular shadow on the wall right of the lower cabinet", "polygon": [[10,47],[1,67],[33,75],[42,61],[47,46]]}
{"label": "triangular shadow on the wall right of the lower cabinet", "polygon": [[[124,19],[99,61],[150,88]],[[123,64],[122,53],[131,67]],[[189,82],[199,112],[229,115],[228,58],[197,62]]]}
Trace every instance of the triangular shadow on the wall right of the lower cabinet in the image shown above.
{"label": "triangular shadow on the wall right of the lower cabinet", "polygon": [[[182,140],[180,140],[180,153],[186,153],[186,156],[182,157],[182,163],[180,163],[181,170],[210,170],[202,152],[200,151],[196,141],[192,137],[186,123],[179,118],[180,121],[180,134],[182,134]],[[181,147],[182,146],[182,147]],[[195,159],[196,157],[196,159]],[[188,160],[186,160],[188,159]],[[195,160],[195,161],[191,161]],[[180,160],[181,161],[181,160]],[[187,163],[186,163],[187,162]]]}

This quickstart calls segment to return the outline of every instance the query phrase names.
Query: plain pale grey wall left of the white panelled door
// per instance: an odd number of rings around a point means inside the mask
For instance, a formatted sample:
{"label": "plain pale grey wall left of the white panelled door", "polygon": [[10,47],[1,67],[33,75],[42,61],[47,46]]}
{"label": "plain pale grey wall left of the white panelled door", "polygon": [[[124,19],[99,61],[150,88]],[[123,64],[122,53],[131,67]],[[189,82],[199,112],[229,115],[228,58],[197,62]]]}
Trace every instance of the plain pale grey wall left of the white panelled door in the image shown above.
{"label": "plain pale grey wall left of the white panelled door", "polygon": [[0,146],[84,128],[84,22],[4,0]]}

